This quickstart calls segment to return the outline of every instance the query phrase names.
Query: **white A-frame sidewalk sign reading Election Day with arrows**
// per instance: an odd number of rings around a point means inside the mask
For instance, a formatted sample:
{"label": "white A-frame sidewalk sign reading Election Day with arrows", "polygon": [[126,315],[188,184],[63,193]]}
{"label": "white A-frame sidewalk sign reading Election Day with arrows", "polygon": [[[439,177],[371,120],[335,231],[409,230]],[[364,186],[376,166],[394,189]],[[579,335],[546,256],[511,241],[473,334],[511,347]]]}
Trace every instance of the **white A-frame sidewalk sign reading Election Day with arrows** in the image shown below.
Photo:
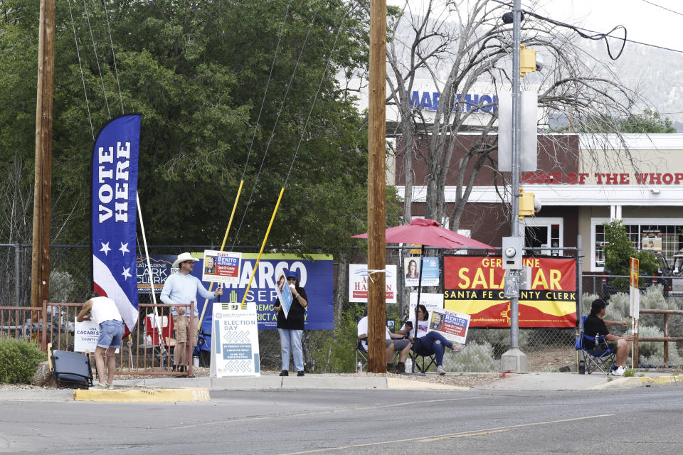
{"label": "white A-frame sidewalk sign reading Election Day with arrows", "polygon": [[213,304],[211,377],[260,376],[256,305]]}

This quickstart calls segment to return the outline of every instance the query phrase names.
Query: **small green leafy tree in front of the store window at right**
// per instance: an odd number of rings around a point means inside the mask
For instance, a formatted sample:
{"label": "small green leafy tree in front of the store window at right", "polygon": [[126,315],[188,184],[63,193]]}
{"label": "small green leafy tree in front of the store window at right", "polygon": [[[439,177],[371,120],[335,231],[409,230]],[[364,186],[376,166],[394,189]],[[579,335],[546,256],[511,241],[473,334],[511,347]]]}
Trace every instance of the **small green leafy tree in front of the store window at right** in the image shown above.
{"label": "small green leafy tree in front of the store window at right", "polygon": [[[605,227],[605,270],[611,275],[629,274],[629,257],[639,261],[640,274],[655,275],[659,262],[657,257],[647,250],[638,251],[633,246],[626,228],[621,220],[603,223]],[[628,287],[628,278],[615,278],[614,284],[618,289]]]}

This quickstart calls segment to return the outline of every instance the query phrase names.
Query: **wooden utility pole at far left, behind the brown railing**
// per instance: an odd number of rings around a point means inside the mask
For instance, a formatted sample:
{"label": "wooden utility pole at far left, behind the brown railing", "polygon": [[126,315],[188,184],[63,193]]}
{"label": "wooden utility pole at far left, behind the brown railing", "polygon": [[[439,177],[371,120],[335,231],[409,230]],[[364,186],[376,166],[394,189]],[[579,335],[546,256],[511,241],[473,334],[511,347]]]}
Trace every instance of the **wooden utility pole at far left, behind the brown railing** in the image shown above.
{"label": "wooden utility pole at far left, behind the brown railing", "polygon": [[33,190],[31,306],[50,296],[50,204],[52,191],[52,100],[55,73],[55,0],[41,0],[36,101],[36,181]]}

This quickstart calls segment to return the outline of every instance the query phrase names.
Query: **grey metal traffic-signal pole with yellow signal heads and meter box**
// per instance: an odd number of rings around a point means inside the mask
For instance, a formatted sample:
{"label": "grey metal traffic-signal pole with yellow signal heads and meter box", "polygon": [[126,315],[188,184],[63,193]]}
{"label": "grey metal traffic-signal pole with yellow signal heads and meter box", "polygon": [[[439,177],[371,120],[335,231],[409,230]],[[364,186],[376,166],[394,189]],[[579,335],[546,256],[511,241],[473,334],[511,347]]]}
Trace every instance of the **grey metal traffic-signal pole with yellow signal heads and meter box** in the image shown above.
{"label": "grey metal traffic-signal pole with yellow signal heads and meter box", "polygon": [[[500,359],[500,370],[513,373],[528,373],[529,361],[526,354],[519,350],[519,287],[520,272],[523,268],[521,257],[524,250],[524,237],[519,232],[520,200],[525,195],[524,201],[533,200],[532,193],[524,193],[519,187],[519,173],[536,170],[536,95],[532,92],[520,90],[519,77],[524,77],[527,72],[540,69],[536,63],[536,52],[521,45],[521,6],[520,0],[514,0],[512,6],[512,116],[509,109],[504,109],[501,97],[499,108],[499,169],[511,171],[510,193],[512,195],[512,225],[511,236],[504,237],[502,242],[502,264],[507,270],[505,277],[504,295],[510,299],[510,349]],[[510,22],[510,14],[504,16],[506,23]],[[521,60],[524,60],[522,62]],[[524,65],[521,65],[524,63]],[[519,77],[517,76],[519,70]],[[524,105],[524,106],[523,106]],[[522,108],[524,107],[524,118]],[[507,112],[506,112],[507,111]],[[511,127],[509,117],[512,117]],[[509,130],[506,134],[506,129]],[[523,138],[524,136],[524,138]],[[524,148],[522,148],[524,142]],[[512,153],[509,153],[512,149]],[[524,156],[521,156],[524,151]],[[512,163],[504,164],[509,156]],[[508,161],[508,162],[509,162]],[[507,168],[506,168],[507,167]],[[525,204],[526,205],[526,204]],[[531,212],[524,211],[524,215],[534,215],[533,202]]]}

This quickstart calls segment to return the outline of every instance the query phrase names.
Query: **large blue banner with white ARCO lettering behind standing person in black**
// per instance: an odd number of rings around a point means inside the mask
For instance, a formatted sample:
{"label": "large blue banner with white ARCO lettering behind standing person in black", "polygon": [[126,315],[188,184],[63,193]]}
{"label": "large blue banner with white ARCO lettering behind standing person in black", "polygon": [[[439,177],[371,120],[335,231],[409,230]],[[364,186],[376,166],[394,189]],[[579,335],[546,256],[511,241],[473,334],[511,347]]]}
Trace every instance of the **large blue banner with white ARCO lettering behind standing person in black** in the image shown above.
{"label": "large blue banner with white ARCO lettering behind standing person in black", "polygon": [[[201,279],[203,252],[192,253],[192,256],[200,259],[200,262],[195,264],[192,274]],[[240,281],[224,284],[222,302],[242,301],[249,280],[254,274],[257,257],[258,255],[255,253],[242,255]],[[275,277],[277,274],[281,274],[283,269],[297,270],[300,276],[300,286],[306,290],[308,306],[305,328],[307,330],[332,330],[334,328],[332,256],[311,255],[311,257],[314,260],[301,259],[295,255],[261,256],[246,299],[247,302],[253,301],[256,304],[259,329],[277,328],[277,317],[272,311],[272,305],[277,299]],[[203,285],[208,289],[210,283],[203,282]],[[216,284],[213,284],[212,290],[216,290]],[[197,296],[200,313],[204,300],[203,297]],[[208,309],[211,309],[211,306]],[[211,331],[211,311],[205,312],[201,326],[205,333]]]}

